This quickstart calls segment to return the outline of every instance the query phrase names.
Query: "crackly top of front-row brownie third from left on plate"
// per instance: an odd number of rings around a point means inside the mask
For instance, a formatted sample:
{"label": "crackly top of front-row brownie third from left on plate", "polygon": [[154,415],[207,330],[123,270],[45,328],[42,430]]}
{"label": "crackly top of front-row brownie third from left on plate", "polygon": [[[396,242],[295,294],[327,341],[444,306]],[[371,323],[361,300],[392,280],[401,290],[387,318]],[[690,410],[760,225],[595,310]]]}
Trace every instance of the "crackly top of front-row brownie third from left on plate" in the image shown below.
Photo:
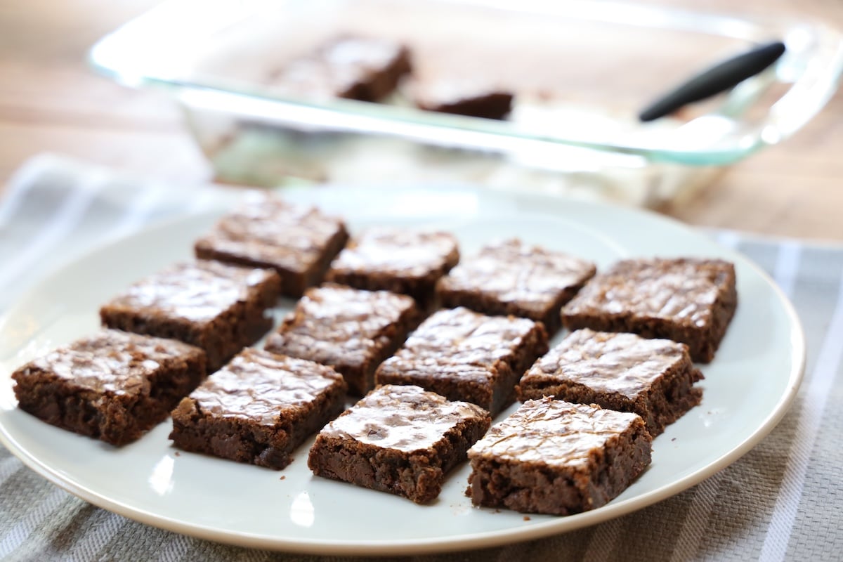
{"label": "crackly top of front-row brownie third from left on plate", "polygon": [[375,388],[321,435],[411,452],[429,449],[464,420],[490,420],[475,404],[450,402],[411,385]]}

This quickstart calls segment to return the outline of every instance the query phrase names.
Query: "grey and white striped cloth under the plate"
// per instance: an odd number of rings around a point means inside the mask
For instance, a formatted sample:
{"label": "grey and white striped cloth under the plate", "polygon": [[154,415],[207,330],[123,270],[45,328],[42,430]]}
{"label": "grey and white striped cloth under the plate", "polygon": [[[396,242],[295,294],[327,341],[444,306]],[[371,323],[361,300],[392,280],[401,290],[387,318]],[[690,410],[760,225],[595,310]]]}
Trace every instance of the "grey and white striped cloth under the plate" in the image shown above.
{"label": "grey and white striped cloth under the plate", "polygon": [[[0,312],[58,262],[232,190],[158,185],[41,156],[0,198]],[[839,560],[843,557],[843,246],[711,233],[773,276],[808,339],[803,387],[758,447],[684,493],[531,543],[419,560]],[[0,447],[0,559],[316,560],[211,543],[91,506]],[[333,557],[332,560],[339,560]]]}

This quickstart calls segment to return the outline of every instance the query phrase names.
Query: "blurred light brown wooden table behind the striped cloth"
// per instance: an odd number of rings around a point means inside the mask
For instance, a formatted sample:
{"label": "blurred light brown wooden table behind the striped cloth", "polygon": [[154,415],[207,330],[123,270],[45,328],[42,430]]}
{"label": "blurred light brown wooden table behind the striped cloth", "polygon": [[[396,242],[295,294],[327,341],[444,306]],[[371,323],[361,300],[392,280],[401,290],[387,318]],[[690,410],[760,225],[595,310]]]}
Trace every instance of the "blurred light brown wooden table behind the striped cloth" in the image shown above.
{"label": "blurred light brown wooden table behind the striped cloth", "polygon": [[[0,184],[26,158],[46,151],[171,182],[211,179],[166,94],[123,88],[85,64],[95,40],[154,3],[0,3]],[[726,0],[706,8],[717,4],[733,8]],[[839,0],[753,0],[749,5],[808,12],[843,26]],[[841,124],[843,94],[838,94],[787,142],[734,165],[708,189],[663,211],[696,225],[843,240]]]}

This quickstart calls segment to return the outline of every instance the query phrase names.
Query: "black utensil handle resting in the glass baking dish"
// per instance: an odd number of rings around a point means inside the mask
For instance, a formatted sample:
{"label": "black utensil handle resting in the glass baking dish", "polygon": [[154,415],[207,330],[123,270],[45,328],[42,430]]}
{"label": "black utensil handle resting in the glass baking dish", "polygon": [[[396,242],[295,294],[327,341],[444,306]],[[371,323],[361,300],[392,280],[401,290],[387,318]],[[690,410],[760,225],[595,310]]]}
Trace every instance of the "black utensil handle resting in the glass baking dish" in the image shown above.
{"label": "black utensil handle resting in the glass baking dish", "polygon": [[738,83],[776,62],[784,52],[784,43],[775,41],[718,62],[648,105],[638,115],[638,119],[652,121],[673,113],[683,105],[710,98],[714,94],[734,88]]}

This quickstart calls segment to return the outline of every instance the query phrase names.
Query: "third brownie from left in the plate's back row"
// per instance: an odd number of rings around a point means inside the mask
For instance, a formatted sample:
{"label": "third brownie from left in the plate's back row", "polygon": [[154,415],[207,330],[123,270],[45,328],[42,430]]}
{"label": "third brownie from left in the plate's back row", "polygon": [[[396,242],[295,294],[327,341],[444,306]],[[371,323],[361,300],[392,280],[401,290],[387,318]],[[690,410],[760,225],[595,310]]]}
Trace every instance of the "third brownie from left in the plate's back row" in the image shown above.
{"label": "third brownie from left in the plate's back row", "polygon": [[539,320],[553,335],[561,325],[562,305],[595,270],[586,260],[511,238],[462,260],[439,280],[437,295],[445,307]]}

